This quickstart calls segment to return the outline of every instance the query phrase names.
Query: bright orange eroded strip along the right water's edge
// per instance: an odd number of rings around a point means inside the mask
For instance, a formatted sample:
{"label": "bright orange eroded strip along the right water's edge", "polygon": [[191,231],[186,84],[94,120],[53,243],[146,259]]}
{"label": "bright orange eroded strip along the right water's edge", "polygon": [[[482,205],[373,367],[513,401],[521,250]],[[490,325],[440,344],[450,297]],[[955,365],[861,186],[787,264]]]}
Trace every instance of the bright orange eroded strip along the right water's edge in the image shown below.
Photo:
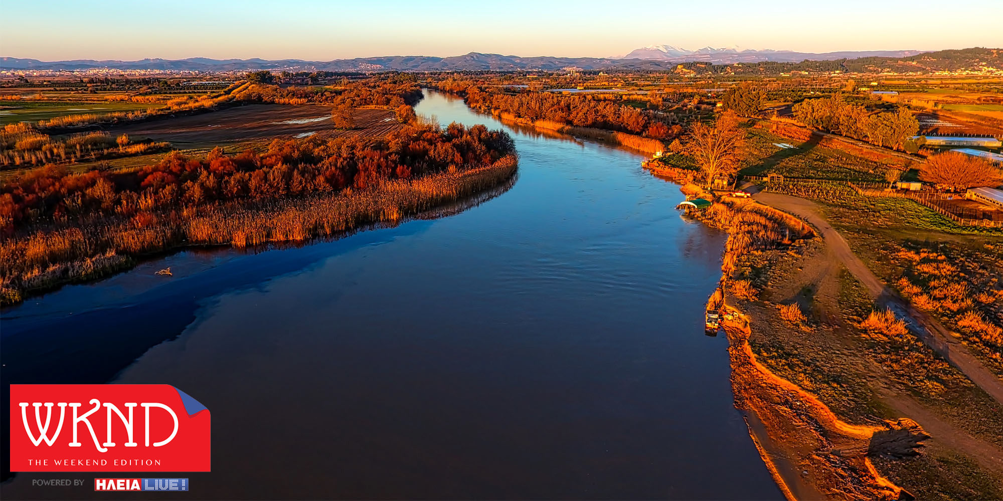
{"label": "bright orange eroded strip along the right water's edge", "polygon": [[[712,197],[692,184],[681,189]],[[742,257],[796,253],[815,232],[790,214],[749,200],[718,200],[696,215],[729,233],[721,282],[708,310],[725,313],[722,328],[728,338],[735,407],[745,413],[749,433],[781,491],[788,499],[909,499],[904,489],[878,473],[869,456],[915,454],[928,438],[922,428],[908,419],[881,425],[842,421],[813,395],[760,364],[749,345],[754,327],[768,328],[737,307],[733,291],[746,298],[755,294],[751,281],[736,280],[743,275]]]}

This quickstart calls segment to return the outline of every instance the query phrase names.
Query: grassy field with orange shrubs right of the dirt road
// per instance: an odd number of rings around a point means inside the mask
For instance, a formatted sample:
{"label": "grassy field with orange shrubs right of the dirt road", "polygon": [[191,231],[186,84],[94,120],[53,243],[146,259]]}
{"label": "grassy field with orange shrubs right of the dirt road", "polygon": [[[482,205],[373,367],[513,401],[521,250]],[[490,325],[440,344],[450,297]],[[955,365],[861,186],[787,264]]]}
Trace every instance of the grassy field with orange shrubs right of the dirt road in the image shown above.
{"label": "grassy field with orange shrubs right of the dirt road", "polygon": [[958,225],[911,199],[862,196],[844,185],[766,188],[819,201],[825,218],[879,278],[1003,375],[1003,228]]}

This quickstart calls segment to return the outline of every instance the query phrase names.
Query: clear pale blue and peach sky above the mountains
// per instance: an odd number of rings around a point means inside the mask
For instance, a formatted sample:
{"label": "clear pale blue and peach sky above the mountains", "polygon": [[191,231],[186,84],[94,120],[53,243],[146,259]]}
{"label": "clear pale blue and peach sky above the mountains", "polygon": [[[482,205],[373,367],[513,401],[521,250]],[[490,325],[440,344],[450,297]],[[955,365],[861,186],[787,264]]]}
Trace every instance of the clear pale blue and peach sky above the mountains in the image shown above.
{"label": "clear pale blue and peach sky above the mountains", "polygon": [[0,0],[0,56],[611,57],[656,44],[801,52],[1003,47],[1003,0]]}

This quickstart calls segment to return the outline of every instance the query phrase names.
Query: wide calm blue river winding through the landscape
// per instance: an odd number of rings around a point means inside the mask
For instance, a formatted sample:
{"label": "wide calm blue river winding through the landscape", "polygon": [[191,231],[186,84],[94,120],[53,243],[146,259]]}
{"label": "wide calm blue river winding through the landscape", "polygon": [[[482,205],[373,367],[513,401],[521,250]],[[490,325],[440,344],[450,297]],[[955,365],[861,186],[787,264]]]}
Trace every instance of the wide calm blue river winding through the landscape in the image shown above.
{"label": "wide calm blue river winding through the landscape", "polygon": [[[212,412],[212,473],[117,476],[189,477],[198,498],[780,499],[732,406],[727,342],[703,334],[725,235],[680,217],[636,153],[435,92],[416,111],[509,129],[511,189],[31,299],[2,312],[5,394],[178,387]],[[92,495],[95,476],[18,474],[2,493]],[[57,477],[87,488],[30,485]]]}

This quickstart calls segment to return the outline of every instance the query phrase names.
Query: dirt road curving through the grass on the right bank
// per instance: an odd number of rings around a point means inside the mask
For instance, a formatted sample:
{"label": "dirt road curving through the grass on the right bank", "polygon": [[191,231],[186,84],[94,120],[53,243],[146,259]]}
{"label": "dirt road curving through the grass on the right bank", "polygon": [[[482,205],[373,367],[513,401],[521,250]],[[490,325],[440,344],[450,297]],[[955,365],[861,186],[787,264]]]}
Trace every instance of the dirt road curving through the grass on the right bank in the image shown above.
{"label": "dirt road curving through the grass on the right bank", "polygon": [[968,348],[952,336],[950,331],[940,322],[929,314],[914,308],[876,277],[867,265],[854,254],[843,235],[822,217],[817,204],[804,198],[779,193],[756,193],[753,198],[801,217],[815,226],[832,255],[864,284],[864,287],[880,306],[889,307],[900,317],[905,317],[910,324],[910,329],[917,337],[941,357],[944,357],[951,365],[958,368],[993,399],[1003,404],[1003,380],[986,369],[982,362],[975,358]]}

